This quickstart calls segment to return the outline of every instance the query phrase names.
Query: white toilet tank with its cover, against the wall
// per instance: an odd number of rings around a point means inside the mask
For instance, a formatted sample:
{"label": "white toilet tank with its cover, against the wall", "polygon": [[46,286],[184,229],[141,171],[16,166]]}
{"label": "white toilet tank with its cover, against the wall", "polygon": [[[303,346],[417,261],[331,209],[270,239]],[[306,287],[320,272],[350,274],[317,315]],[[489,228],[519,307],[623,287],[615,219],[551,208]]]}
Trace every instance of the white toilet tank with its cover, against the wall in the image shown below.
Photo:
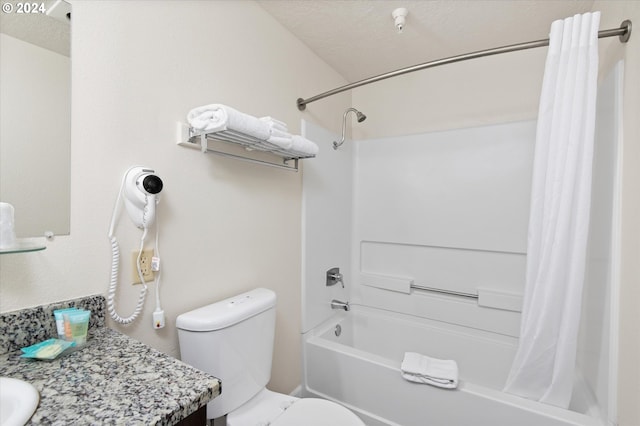
{"label": "white toilet tank with its cover, against the wall", "polygon": [[271,378],[276,295],[265,288],[203,306],[176,319],[182,361],[222,382],[207,418],[230,413]]}

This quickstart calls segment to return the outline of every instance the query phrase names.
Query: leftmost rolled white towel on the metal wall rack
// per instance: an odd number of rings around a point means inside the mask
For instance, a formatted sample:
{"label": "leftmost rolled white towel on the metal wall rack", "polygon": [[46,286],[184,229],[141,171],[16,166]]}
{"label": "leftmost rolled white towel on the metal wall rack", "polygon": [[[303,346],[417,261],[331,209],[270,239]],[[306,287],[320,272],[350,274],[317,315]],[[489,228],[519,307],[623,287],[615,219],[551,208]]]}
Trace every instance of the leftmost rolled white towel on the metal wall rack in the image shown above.
{"label": "leftmost rolled white towel on the metal wall rack", "polygon": [[268,123],[222,104],[194,108],[187,114],[187,121],[201,131],[235,130],[263,141],[271,136]]}

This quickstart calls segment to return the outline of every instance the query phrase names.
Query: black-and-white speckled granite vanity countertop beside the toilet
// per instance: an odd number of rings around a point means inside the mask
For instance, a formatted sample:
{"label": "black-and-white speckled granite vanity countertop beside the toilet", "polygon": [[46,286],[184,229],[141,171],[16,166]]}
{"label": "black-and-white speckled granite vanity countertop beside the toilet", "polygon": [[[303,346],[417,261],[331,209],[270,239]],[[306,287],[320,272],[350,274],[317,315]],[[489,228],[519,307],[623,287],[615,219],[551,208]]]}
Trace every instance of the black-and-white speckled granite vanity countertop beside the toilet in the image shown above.
{"label": "black-and-white speckled granite vanity countertop beside the toilet", "polygon": [[[25,380],[40,392],[40,405],[28,424],[173,425],[204,418],[206,404],[220,394],[220,381],[104,327],[104,306],[99,306],[104,298],[99,296],[97,303],[96,316],[101,312],[102,320],[96,323],[102,325],[90,329],[83,348],[53,361],[20,358],[19,350],[0,355],[0,376]],[[37,312],[0,314],[0,332],[17,325],[17,318],[31,318],[26,328],[32,327],[38,317]],[[52,330],[38,341],[55,337]]]}

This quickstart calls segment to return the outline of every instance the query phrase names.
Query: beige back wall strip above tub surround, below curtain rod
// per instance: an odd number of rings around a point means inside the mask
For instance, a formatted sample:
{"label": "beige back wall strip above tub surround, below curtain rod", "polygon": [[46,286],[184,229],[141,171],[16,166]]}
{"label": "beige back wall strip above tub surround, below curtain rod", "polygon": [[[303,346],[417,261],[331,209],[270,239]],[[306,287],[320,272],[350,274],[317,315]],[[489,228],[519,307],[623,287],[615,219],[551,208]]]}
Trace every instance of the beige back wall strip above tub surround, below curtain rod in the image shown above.
{"label": "beige back wall strip above tub surround, below curtain rod", "polygon": [[353,127],[353,137],[363,140],[534,119],[545,55],[544,49],[514,52],[357,88],[353,105],[368,118]]}

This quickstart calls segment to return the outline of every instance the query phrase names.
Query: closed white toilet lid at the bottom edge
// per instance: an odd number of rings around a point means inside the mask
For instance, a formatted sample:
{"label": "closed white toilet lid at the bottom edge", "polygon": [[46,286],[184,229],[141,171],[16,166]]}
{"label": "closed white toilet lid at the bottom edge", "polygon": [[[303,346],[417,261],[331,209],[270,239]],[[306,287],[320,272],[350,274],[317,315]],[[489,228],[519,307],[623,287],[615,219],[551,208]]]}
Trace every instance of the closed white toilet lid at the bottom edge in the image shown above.
{"label": "closed white toilet lid at the bottom edge", "polygon": [[271,426],[364,426],[358,416],[335,402],[302,398],[285,410]]}

